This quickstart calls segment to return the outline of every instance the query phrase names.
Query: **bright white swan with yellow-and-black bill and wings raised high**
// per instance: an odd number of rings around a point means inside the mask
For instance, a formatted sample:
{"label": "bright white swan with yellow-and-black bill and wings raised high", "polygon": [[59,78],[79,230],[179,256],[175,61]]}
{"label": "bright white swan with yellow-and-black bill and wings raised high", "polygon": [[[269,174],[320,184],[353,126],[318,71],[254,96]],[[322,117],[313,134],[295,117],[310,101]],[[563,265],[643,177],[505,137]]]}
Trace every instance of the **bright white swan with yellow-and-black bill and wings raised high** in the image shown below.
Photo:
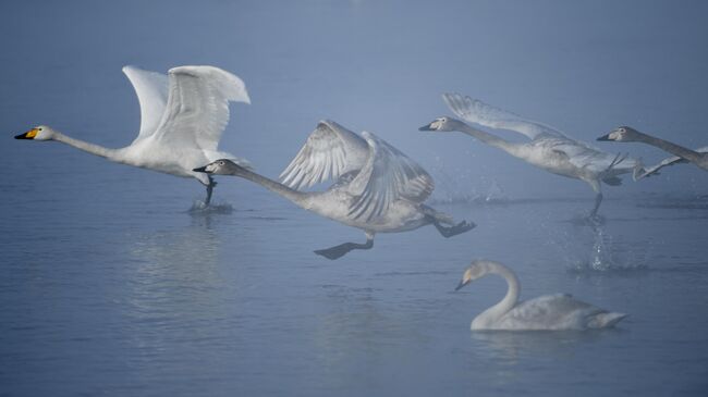
{"label": "bright white swan with yellow-and-black bill and wings raised high", "polygon": [[222,158],[248,166],[246,160],[217,149],[229,122],[229,101],[251,103],[243,80],[215,66],[174,67],[168,72],[169,77],[135,66],[124,66],[123,73],[141,103],[141,129],[131,145],[105,148],[46,125],[15,139],[56,140],[117,163],[194,177],[207,188],[204,204],[208,207],[216,182],[192,170]]}

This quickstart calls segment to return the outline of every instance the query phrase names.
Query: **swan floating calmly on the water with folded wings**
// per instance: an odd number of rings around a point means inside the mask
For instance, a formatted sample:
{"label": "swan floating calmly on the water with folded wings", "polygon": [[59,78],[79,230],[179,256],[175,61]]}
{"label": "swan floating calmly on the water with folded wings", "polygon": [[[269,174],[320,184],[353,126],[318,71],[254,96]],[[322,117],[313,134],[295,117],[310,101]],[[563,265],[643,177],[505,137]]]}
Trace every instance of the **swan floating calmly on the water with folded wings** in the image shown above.
{"label": "swan floating calmly on the water with folded wings", "polygon": [[506,281],[508,290],[499,303],[478,314],[471,324],[478,330],[593,330],[613,326],[627,314],[608,312],[567,294],[546,295],[518,302],[521,284],[505,265],[488,260],[475,260],[465,270],[459,290],[487,274],[497,274]]}

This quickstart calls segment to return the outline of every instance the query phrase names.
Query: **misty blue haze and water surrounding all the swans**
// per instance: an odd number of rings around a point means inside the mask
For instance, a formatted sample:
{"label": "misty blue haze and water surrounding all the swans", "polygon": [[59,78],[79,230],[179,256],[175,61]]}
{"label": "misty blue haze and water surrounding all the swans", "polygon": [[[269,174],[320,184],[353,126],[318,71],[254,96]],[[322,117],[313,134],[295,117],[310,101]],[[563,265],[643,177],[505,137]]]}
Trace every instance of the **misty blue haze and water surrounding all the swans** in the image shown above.
{"label": "misty blue haze and water surrounding all the swans", "polygon": [[[707,21],[700,1],[0,3],[0,395],[704,395],[705,172],[607,186],[591,228],[571,222],[593,203],[586,184],[417,127],[454,90],[586,141],[627,124],[708,145]],[[195,216],[195,181],[12,139],[48,124],[130,144],[125,64],[242,77],[253,103],[231,107],[220,148],[267,176],[321,119],[374,132],[434,174],[436,208],[478,227],[380,235],[330,262],[312,250],[363,234],[253,184],[219,178],[233,213]],[[447,202],[491,193],[501,203]],[[631,317],[471,334],[504,288],[451,293],[478,257],[513,266],[522,297],[567,291]]]}

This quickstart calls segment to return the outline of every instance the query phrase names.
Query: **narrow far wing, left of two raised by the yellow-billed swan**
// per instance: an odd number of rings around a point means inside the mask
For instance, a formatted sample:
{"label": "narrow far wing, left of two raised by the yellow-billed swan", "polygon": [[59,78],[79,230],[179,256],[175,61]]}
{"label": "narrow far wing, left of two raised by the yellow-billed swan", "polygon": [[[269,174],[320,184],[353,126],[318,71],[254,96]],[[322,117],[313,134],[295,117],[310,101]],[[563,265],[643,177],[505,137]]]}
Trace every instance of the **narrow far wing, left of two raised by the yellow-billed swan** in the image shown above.
{"label": "narrow far wing, left of two raised by the yellow-billed swan", "polygon": [[135,140],[145,138],[155,133],[168,97],[168,78],[162,73],[144,71],[126,65],[123,73],[131,80],[135,95],[141,103],[141,132]]}

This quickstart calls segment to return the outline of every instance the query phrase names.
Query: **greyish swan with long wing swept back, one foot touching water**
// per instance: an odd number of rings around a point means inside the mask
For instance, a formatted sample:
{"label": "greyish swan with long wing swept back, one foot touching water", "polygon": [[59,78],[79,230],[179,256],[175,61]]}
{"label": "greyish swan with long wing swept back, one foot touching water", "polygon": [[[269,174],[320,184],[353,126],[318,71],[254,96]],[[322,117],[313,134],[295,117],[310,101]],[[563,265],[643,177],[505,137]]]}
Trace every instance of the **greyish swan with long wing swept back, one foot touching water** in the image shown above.
{"label": "greyish swan with long wing swept back, one foot touching water", "polygon": [[480,100],[462,97],[460,94],[444,94],[442,98],[459,117],[469,123],[520,133],[530,141],[509,141],[448,116],[438,117],[419,131],[462,132],[539,169],[584,181],[596,194],[590,218],[597,215],[602,202],[601,183],[618,186],[622,184],[618,175],[633,173],[636,177],[643,170],[638,160],[607,153],[572,139],[553,127],[523,119]]}

